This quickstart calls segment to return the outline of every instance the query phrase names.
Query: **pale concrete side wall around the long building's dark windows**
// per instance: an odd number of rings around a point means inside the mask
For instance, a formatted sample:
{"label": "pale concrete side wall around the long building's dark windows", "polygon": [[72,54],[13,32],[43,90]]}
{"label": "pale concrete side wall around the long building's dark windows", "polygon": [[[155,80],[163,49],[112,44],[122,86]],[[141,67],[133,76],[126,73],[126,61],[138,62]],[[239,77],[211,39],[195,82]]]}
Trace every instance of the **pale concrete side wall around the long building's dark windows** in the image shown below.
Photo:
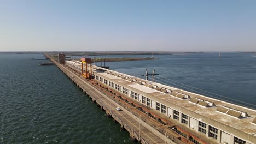
{"label": "pale concrete side wall around the long building's dark windows", "polygon": [[[207,124],[206,137],[208,137],[208,124],[212,125],[214,128],[218,129],[218,140],[216,140],[217,142],[224,143],[226,141],[228,143],[234,143],[234,136],[239,136],[239,138],[241,137],[240,139],[243,139],[243,140],[246,140],[246,141],[256,140],[256,138],[254,136],[251,136],[247,133],[241,133],[241,131],[239,131],[239,130],[233,128],[233,127],[230,127],[229,125],[219,123],[215,119],[205,117],[203,115],[200,115],[199,113],[184,109],[183,107],[180,107],[178,105],[167,103],[165,100],[153,97],[153,96],[151,96],[147,93],[139,91],[138,89],[131,88],[129,86],[124,85],[123,83],[119,83],[118,81],[109,80],[109,79],[107,79],[107,80],[108,81],[113,81],[114,83],[115,82],[118,83],[121,86],[121,88],[126,87],[127,89],[129,89],[129,97],[131,97],[131,91],[138,93],[139,94],[138,95],[139,96],[138,101],[140,101],[141,103],[142,103],[142,95],[144,97],[146,97],[146,104],[147,104],[147,98],[149,98],[150,99],[150,107],[152,107],[152,109],[154,109],[154,110],[155,110],[156,102],[166,105],[166,111],[167,111],[166,115],[171,116],[171,118],[173,118],[173,109],[179,111],[179,113],[180,113],[179,122],[181,122],[181,119],[182,119],[181,113],[184,113],[185,115],[188,115],[188,127],[190,127],[191,129],[193,129],[195,131],[198,131],[199,119],[201,119],[200,121]],[[170,107],[172,107],[173,109],[170,108]],[[223,131],[228,131],[228,133],[230,133],[230,135],[227,134],[227,133],[224,133]],[[248,142],[246,142],[246,143],[248,143]]]}

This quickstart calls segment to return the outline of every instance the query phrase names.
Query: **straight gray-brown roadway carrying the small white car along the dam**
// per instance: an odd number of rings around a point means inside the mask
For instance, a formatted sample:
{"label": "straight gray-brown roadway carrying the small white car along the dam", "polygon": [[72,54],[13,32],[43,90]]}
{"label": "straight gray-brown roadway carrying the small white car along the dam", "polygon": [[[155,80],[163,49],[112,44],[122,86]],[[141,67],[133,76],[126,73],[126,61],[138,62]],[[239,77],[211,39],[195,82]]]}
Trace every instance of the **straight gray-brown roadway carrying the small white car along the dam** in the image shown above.
{"label": "straight gray-brown roadway carrying the small white car along the dam", "polygon": [[[73,73],[71,70],[63,67],[63,65],[59,63],[56,63],[56,65],[60,69],[62,69],[62,71],[64,71],[69,77],[71,77],[71,75],[75,75],[75,73]],[[86,91],[89,95],[91,95],[91,97],[94,97],[94,99],[97,101],[98,104],[103,105],[103,108],[105,110],[109,110],[112,116],[117,116],[117,118],[115,119],[119,118],[123,120],[127,126],[129,126],[133,131],[135,131],[135,133],[138,136],[140,134],[142,139],[144,139],[148,143],[165,143],[166,142],[165,137],[163,137],[162,135],[156,135],[158,134],[158,131],[155,131],[153,128],[150,128],[149,125],[143,123],[141,119],[137,118],[132,113],[125,110],[121,105],[115,103],[106,95],[102,94],[100,91],[98,91],[97,89],[89,85],[89,83],[86,82],[84,79],[82,79],[80,76],[75,75],[75,77],[71,77],[71,79],[73,79],[80,87],[84,89],[84,91]],[[116,107],[121,107],[123,111],[117,111],[115,109]],[[139,122],[141,122],[141,124],[139,124]],[[172,143],[172,141],[170,140],[168,140],[167,142]]]}

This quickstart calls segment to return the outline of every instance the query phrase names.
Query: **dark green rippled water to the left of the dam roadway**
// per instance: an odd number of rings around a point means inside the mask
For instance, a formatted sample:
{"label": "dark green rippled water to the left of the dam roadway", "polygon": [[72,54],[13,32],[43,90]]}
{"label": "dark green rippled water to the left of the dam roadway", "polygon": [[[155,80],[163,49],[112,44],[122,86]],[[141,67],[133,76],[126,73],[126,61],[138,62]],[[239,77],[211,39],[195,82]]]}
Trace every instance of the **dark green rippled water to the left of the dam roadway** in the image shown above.
{"label": "dark green rippled water to the left of the dam roadway", "polygon": [[43,55],[0,54],[0,143],[132,143]]}

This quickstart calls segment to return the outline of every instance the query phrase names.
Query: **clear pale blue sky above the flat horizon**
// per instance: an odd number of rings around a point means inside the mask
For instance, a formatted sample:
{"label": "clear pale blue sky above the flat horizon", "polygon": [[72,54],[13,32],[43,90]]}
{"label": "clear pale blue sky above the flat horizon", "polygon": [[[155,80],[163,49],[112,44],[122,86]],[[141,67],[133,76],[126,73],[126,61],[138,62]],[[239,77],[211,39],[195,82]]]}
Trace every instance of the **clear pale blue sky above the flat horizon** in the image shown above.
{"label": "clear pale blue sky above the flat horizon", "polygon": [[0,51],[256,51],[256,1],[0,0]]}

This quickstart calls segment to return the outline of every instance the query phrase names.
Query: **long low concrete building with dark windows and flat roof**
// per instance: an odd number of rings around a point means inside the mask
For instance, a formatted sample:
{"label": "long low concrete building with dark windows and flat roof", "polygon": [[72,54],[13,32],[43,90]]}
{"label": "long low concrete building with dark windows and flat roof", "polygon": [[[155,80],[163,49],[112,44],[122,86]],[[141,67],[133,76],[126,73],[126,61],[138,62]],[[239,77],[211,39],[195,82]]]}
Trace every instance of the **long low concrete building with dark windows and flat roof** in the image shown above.
{"label": "long low concrete building with dark windows and flat roof", "polygon": [[[81,62],[66,65],[81,71]],[[84,70],[85,72],[85,70]],[[92,65],[92,76],[217,143],[256,143],[256,110]]]}

